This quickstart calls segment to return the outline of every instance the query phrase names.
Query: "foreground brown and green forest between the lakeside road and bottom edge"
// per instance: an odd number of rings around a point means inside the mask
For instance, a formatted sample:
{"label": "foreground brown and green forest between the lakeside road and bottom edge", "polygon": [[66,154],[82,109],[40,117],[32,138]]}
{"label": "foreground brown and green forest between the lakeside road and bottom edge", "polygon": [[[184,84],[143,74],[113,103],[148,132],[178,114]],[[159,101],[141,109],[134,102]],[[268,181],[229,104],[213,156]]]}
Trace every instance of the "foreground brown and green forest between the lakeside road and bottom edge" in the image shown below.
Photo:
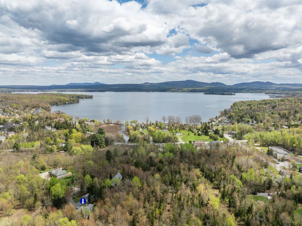
{"label": "foreground brown and green forest between the lakeside road and bottom edge", "polygon": [[[74,172],[69,184],[40,176],[37,166]],[[160,152],[142,143],[109,147],[76,156],[7,153],[0,157],[2,225],[299,225],[294,210],[302,201],[300,176],[277,184],[263,174],[257,152],[239,147],[196,150],[167,144]],[[108,179],[120,172],[112,187]],[[271,169],[271,172],[278,175]],[[294,175],[294,173],[293,173]],[[89,219],[68,204],[74,184],[94,196]],[[71,188],[69,188],[71,186]],[[50,189],[51,188],[51,189]],[[251,194],[275,191],[268,202]],[[59,201],[58,201],[59,200]],[[58,203],[60,202],[60,203]],[[53,208],[52,206],[57,208]],[[22,209],[14,215],[12,209]],[[31,212],[26,213],[26,209]]]}

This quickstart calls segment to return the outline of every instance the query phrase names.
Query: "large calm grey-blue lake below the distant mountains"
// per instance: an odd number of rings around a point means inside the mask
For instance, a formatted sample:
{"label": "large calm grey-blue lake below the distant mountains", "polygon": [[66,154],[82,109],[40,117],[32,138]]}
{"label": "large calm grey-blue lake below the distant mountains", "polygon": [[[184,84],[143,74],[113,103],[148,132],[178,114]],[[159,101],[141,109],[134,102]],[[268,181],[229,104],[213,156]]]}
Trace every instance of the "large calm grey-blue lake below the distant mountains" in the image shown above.
{"label": "large calm grey-blue lake below the distant mountains", "polygon": [[[64,92],[65,93],[65,92]],[[185,121],[188,115],[201,115],[203,121],[219,115],[219,111],[229,108],[239,100],[268,99],[262,93],[236,93],[236,95],[204,95],[187,92],[66,92],[93,95],[93,99],[81,99],[79,103],[52,106],[52,111],[60,110],[80,118],[103,119],[122,122],[137,119],[145,121],[161,120],[162,116],[174,115]]]}

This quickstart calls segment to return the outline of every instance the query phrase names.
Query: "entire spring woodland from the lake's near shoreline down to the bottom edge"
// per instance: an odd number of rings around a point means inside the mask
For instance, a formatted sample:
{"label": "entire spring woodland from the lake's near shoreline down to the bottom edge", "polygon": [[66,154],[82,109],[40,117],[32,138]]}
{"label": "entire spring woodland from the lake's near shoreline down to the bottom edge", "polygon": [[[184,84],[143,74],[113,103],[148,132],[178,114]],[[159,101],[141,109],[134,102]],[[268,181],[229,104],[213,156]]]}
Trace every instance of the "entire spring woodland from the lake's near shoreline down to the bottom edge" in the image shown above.
{"label": "entire spring woodland from the lake's near shoreline down to the bottom edge", "polygon": [[[192,142],[179,143],[175,133],[217,140],[228,126],[215,128],[199,115],[188,116],[185,124],[172,115],[152,123],[147,117],[143,125],[126,122],[131,143],[123,144],[120,125],[110,119],[73,119],[48,110],[52,103],[82,96],[42,94],[31,102],[29,96],[9,94],[1,102],[10,116],[1,116],[0,124],[11,125],[15,134],[0,142],[0,225],[301,225],[297,165],[289,162],[288,168],[277,170],[271,152],[252,145],[302,149],[301,127],[271,130],[265,124],[295,122],[301,112],[297,99],[252,102],[258,103],[255,115],[252,109],[246,112],[243,102],[235,103],[223,113],[244,122],[247,115],[249,122],[258,113],[266,115],[253,127],[232,125],[249,142],[223,139],[197,148]],[[275,109],[280,120],[270,121],[275,113],[266,108]],[[47,176],[56,168],[69,175]],[[259,195],[268,193],[270,199]],[[88,211],[77,208],[85,207],[79,203],[85,194],[93,204]]]}

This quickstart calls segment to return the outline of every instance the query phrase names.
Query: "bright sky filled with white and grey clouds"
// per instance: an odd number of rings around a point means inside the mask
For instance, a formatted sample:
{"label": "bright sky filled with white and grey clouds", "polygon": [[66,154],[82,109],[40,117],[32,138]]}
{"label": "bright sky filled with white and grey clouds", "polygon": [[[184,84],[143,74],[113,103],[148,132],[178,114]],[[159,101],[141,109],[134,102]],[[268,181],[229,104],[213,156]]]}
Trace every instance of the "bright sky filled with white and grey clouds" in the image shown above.
{"label": "bright sky filled with white and grey clouds", "polygon": [[302,83],[301,0],[0,0],[0,85]]}

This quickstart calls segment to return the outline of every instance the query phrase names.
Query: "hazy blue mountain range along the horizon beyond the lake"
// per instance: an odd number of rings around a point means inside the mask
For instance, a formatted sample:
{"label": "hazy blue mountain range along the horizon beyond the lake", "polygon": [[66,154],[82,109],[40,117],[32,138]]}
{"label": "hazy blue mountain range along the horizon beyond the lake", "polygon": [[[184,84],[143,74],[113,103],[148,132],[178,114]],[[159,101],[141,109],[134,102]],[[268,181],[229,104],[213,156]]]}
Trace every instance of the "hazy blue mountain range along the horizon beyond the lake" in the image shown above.
{"label": "hazy blue mountain range along the horizon beyond the lake", "polygon": [[[1,86],[2,89],[18,89],[18,90],[78,90],[88,92],[105,92],[105,91],[135,91],[135,92],[247,92],[278,90],[278,91],[302,91],[302,84],[299,83],[282,83],[273,82],[243,82],[234,85],[226,85],[221,82],[198,82],[194,80],[170,81],[170,82],[145,82],[141,84],[104,84],[100,82],[94,83],[68,83],[66,85],[51,86],[28,86],[28,85],[11,85]],[[67,91],[67,90],[66,90]]]}

